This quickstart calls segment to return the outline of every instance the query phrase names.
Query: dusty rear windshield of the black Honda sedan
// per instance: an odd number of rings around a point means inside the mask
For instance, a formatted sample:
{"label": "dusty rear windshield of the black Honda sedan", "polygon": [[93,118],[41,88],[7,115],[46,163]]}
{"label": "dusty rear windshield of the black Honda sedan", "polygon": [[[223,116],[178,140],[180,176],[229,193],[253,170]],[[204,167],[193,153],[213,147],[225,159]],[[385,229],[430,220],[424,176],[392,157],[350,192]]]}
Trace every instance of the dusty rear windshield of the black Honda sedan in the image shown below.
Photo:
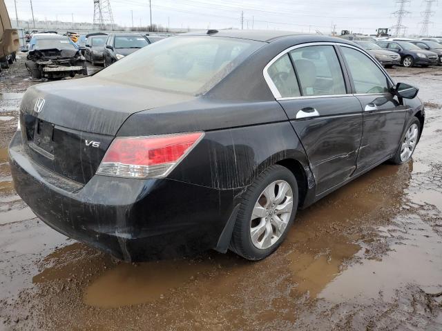
{"label": "dusty rear windshield of the black Honda sedan", "polygon": [[95,74],[118,83],[200,95],[265,43],[222,37],[170,37]]}

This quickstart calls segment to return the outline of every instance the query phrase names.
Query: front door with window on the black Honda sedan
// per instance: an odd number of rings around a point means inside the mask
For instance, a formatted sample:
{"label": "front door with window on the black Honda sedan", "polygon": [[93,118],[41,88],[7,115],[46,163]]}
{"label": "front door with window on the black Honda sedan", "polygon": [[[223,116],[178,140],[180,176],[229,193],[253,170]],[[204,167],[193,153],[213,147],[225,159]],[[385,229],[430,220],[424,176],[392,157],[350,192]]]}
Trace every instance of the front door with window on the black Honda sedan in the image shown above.
{"label": "front door with window on the black Honda sedan", "polygon": [[358,172],[394,154],[405,123],[406,107],[390,90],[390,78],[362,50],[340,46],[355,96],[363,108],[363,137]]}

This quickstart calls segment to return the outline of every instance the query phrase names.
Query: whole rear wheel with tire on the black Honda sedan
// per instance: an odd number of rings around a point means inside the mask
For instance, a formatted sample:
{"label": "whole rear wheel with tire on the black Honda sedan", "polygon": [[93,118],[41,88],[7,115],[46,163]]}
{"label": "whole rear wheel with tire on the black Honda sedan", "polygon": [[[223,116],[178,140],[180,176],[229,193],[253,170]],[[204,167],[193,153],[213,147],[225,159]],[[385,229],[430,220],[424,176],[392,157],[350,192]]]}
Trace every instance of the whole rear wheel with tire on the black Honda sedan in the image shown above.
{"label": "whole rear wheel with tire on the black Honda sedan", "polygon": [[287,237],[297,208],[294,174],[281,165],[271,165],[242,197],[230,250],[253,261],[268,257]]}

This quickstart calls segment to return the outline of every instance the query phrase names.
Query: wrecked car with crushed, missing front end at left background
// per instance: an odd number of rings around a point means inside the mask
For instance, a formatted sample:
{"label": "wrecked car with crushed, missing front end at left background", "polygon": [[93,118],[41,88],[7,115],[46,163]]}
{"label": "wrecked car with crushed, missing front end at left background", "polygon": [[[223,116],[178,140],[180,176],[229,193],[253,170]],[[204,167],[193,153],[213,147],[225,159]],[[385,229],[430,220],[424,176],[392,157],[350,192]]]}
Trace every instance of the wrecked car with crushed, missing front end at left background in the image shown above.
{"label": "wrecked car with crushed, missing front end at left background", "polygon": [[32,37],[26,59],[25,66],[34,79],[61,79],[88,74],[81,50],[69,37],[59,34]]}

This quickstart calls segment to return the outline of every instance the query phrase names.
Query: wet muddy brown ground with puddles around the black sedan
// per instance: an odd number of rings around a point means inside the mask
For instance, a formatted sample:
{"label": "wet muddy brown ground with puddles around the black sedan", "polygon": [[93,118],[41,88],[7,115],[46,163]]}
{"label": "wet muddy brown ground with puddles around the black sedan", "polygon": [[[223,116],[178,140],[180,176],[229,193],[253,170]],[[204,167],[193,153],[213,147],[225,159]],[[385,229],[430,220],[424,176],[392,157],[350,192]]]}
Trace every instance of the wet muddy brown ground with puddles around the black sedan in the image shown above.
{"label": "wet muddy brown ground with puddles around the black sedan", "polygon": [[0,74],[0,330],[442,330],[442,68],[393,68],[427,120],[383,164],[298,213],[265,261],[129,264],[68,239],[15,194],[7,145],[27,78]]}

